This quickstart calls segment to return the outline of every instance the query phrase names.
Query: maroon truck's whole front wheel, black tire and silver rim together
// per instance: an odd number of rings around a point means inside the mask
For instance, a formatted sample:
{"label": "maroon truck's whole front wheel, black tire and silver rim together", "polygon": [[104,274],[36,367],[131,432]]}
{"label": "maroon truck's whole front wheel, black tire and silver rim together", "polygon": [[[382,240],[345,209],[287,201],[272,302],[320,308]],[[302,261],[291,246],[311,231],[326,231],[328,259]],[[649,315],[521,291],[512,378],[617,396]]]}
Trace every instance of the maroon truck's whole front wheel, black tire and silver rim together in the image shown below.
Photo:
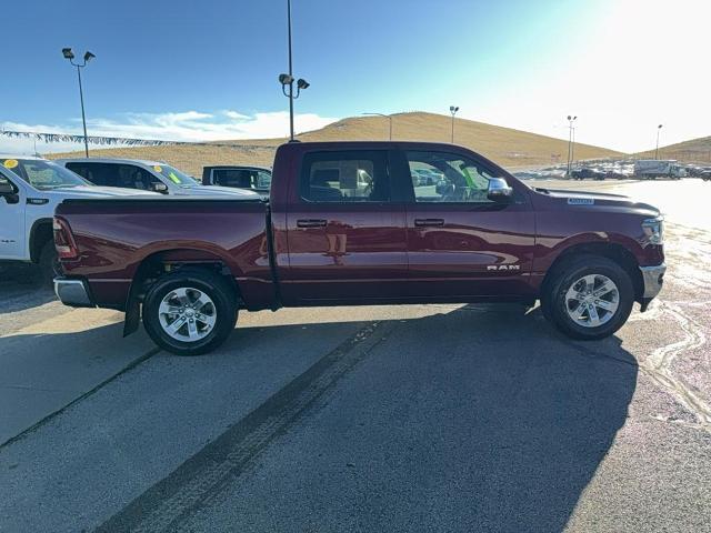
{"label": "maroon truck's whole front wheel, black tire and silver rim together", "polygon": [[580,255],[557,269],[541,295],[543,314],[573,339],[598,340],[618,331],[632,311],[634,289],[618,263]]}

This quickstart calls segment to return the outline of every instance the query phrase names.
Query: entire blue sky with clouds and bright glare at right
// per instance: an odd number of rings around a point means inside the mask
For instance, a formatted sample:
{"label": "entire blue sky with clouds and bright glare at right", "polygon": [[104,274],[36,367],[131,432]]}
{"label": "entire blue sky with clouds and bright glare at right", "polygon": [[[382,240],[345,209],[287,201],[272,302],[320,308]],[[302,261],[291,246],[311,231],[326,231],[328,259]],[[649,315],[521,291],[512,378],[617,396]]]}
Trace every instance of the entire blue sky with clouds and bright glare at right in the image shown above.
{"label": "entire blue sky with clouds and bright glare at right", "polygon": [[[288,134],[286,0],[24,0],[3,7],[0,128],[220,140]],[[292,0],[308,131],[429,111],[625,152],[711,135],[709,0]],[[38,143],[41,151],[78,145]],[[0,151],[32,141],[0,137]]]}

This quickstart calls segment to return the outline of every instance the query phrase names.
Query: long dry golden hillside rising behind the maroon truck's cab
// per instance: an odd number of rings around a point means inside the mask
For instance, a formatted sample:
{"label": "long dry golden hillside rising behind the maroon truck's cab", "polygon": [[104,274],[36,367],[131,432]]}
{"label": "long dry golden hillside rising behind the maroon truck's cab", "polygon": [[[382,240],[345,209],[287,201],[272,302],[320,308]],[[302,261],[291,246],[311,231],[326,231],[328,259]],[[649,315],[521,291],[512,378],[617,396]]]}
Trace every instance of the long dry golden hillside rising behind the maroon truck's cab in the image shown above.
{"label": "long dry golden hillside rising behind the maroon truck's cab", "polygon": [[[392,115],[393,140],[449,142],[451,118],[433,113],[397,113]],[[352,117],[320,130],[301,133],[302,141],[344,141],[388,139],[388,120],[382,117]],[[193,175],[202,174],[207,164],[260,164],[271,165],[274,149],[286,139],[221,141],[234,142],[234,147],[210,144],[167,145],[142,148],[90,149],[94,157],[137,158],[167,161]],[[468,147],[508,168],[550,164],[552,155],[565,161],[568,142],[525,131],[455,119],[454,142]],[[240,147],[249,144],[249,148]],[[620,152],[588,144],[575,144],[575,159],[600,159],[619,155]],[[49,154],[49,158],[81,157]]]}

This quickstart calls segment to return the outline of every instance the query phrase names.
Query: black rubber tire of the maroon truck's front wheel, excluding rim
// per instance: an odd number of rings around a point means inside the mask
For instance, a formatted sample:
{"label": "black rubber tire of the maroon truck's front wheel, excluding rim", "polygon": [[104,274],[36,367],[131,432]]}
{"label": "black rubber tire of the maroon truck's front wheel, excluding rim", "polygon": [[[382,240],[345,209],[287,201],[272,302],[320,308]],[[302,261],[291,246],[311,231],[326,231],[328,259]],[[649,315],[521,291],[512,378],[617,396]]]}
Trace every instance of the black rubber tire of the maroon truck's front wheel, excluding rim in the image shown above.
{"label": "black rubber tire of the maroon truck's front wheel, excluding rim", "polygon": [[[585,275],[603,275],[617,285],[618,308],[599,326],[585,326],[577,323],[569,314],[565,294],[568,290]],[[600,255],[580,254],[565,260],[551,273],[541,294],[543,315],[558,330],[572,339],[594,341],[612,335],[618,331],[632,311],[634,286],[630,274],[614,261]],[[607,312],[605,312],[607,313]]]}

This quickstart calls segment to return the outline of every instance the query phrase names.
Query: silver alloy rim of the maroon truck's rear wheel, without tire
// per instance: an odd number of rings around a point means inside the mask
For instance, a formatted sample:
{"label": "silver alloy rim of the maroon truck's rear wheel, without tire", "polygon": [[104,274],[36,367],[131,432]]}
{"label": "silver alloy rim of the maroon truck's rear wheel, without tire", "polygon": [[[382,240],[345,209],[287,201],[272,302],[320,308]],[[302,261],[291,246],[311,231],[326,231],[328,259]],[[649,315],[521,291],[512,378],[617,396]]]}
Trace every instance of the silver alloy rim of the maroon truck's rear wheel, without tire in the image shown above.
{"label": "silver alloy rim of the maroon truck's rear wheel, without tire", "polygon": [[214,302],[190,286],[170,291],[158,308],[163,331],[181,342],[196,342],[210,334],[217,321]]}

